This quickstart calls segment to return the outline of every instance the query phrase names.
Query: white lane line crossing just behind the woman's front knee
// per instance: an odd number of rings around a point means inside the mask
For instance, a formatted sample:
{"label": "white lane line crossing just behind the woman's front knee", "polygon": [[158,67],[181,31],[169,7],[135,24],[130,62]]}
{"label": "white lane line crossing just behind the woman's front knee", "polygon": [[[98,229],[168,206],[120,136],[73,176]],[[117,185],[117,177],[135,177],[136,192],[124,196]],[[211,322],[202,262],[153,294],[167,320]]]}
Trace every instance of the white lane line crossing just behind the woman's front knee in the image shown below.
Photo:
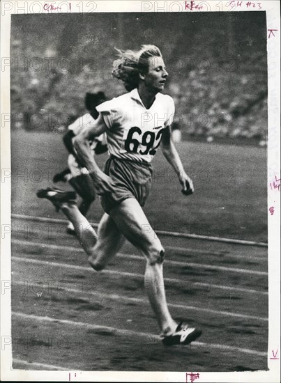
{"label": "white lane line crossing just behind the woman's front knee", "polygon": [[[75,251],[76,253],[84,253],[82,249],[76,248],[76,247],[70,247],[70,246],[61,246],[57,244],[40,244],[38,242],[26,242],[22,240],[13,240],[12,243],[15,244],[25,244],[27,246],[38,246],[40,245],[41,247],[47,247],[47,249],[54,249],[54,250],[65,250],[65,251]],[[135,260],[144,260],[144,257],[142,256],[132,256],[130,254],[123,254],[123,253],[118,253],[117,256],[119,258],[123,259],[135,259]],[[190,263],[190,262],[180,262],[178,260],[165,260],[165,263],[167,265],[174,265],[174,266],[179,266],[179,267],[197,267],[199,269],[213,269],[213,270],[221,270],[224,272],[238,272],[241,274],[255,274],[255,275],[265,275],[267,276],[267,272],[257,272],[255,270],[249,270],[249,269],[236,269],[234,267],[225,267],[225,266],[213,266],[213,265],[205,265],[202,263]]]}

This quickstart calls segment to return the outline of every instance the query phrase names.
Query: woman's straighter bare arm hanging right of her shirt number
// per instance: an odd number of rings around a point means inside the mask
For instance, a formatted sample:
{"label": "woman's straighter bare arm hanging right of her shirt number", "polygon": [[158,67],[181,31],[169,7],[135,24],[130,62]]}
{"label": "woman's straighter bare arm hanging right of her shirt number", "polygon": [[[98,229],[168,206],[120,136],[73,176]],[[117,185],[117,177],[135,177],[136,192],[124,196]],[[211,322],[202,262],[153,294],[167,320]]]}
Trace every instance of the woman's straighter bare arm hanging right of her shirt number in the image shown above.
{"label": "woman's straighter bare arm hanging right of her shirt number", "polygon": [[190,190],[191,194],[194,191],[193,183],[191,178],[188,177],[183,169],[179,153],[174,147],[174,143],[172,141],[171,127],[169,126],[163,130],[161,148],[167,162],[172,165],[174,171],[176,171],[176,174],[179,177],[179,182],[181,182],[181,185],[183,186],[183,193],[185,194]]}

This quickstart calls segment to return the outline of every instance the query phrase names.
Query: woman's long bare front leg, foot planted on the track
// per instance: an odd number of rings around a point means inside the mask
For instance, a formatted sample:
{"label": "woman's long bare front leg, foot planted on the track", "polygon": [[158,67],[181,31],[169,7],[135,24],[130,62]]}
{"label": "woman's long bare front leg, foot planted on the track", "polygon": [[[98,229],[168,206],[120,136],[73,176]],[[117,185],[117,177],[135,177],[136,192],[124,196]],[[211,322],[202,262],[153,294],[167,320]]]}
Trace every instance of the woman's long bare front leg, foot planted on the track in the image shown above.
{"label": "woman's long bare front leg, foot planted on the track", "polygon": [[112,209],[110,217],[114,219],[121,233],[144,254],[146,258],[144,283],[149,301],[162,334],[174,333],[177,323],[172,319],[167,307],[162,270],[164,249],[159,238],[135,198],[127,198]]}

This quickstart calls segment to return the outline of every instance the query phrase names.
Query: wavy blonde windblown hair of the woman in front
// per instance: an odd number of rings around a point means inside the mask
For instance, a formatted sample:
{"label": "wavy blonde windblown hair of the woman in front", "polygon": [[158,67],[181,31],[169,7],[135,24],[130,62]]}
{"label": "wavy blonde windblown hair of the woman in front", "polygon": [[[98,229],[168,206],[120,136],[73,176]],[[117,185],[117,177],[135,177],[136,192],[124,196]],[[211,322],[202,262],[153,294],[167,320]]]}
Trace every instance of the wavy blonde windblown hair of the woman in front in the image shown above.
{"label": "wavy blonde windblown hair of the woman in front", "polygon": [[162,57],[155,45],[142,45],[137,52],[130,49],[119,52],[119,58],[113,63],[112,76],[123,81],[126,91],[130,92],[139,85],[139,73],[147,73],[150,57]]}

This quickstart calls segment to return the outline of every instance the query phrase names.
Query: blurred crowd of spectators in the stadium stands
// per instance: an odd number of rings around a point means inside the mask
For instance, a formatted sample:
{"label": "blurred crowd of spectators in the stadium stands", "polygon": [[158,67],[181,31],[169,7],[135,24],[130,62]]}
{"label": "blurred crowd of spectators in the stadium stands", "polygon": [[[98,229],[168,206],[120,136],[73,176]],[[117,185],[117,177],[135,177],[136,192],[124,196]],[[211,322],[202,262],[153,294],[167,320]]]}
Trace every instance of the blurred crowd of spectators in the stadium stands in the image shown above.
{"label": "blurred crowd of spectators in the stadium stands", "polygon": [[[50,20],[42,20],[50,24]],[[122,19],[122,31],[129,29],[131,21]],[[105,29],[102,19],[99,22],[96,28]],[[235,28],[231,37],[222,26],[210,35],[211,26],[197,15],[192,21],[192,40],[186,46],[179,43],[184,31],[179,31],[179,36],[169,31],[160,33],[157,45],[163,47],[167,70],[172,73],[165,93],[174,98],[174,127],[181,130],[183,139],[203,136],[207,141],[224,137],[266,142],[266,41],[257,36],[258,22],[250,29],[241,19],[240,25],[236,25],[236,19],[232,22]],[[153,29],[146,26],[149,20],[142,23],[144,37],[138,37],[140,43],[153,38]],[[105,45],[93,35],[91,23],[84,18],[84,32],[66,50],[63,44],[69,33],[66,22],[59,26],[56,23],[46,39],[39,30],[38,38],[33,38],[31,26],[23,26],[20,18],[14,19],[10,54],[11,127],[61,132],[84,113],[86,91],[106,90],[109,98],[121,95],[122,84],[112,79],[109,60],[105,59],[114,58],[114,47],[122,42],[121,34],[116,33],[118,26],[118,21],[112,19]]]}

